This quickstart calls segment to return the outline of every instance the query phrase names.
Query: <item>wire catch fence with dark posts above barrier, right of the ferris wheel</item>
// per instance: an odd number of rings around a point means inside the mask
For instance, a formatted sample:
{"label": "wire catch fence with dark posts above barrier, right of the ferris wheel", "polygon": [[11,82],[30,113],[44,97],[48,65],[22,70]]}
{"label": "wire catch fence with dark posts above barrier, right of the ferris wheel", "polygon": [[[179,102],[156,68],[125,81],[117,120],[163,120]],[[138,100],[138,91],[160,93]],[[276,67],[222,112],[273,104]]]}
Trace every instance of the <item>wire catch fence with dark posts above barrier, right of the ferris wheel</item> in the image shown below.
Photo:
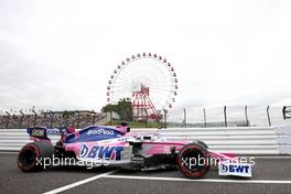
{"label": "wire catch fence with dark posts above barrier, right of the ferris wheel", "polygon": [[168,127],[255,127],[291,125],[291,106],[186,107],[164,114]]}

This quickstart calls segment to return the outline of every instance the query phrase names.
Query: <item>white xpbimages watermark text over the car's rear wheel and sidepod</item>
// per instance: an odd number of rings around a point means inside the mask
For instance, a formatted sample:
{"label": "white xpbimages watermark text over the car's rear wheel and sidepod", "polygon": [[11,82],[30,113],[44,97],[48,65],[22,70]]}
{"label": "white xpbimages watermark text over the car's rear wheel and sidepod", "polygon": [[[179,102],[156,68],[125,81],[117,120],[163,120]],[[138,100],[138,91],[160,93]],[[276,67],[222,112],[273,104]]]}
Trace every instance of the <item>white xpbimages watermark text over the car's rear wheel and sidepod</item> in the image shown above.
{"label": "white xpbimages watermark text over the car's rear wheel and sidepod", "polygon": [[75,158],[57,158],[53,154],[51,158],[36,158],[36,165],[40,165],[43,169],[58,165],[79,165],[86,166],[87,169],[93,169],[95,166],[109,165],[109,161],[108,159],[77,160]]}

